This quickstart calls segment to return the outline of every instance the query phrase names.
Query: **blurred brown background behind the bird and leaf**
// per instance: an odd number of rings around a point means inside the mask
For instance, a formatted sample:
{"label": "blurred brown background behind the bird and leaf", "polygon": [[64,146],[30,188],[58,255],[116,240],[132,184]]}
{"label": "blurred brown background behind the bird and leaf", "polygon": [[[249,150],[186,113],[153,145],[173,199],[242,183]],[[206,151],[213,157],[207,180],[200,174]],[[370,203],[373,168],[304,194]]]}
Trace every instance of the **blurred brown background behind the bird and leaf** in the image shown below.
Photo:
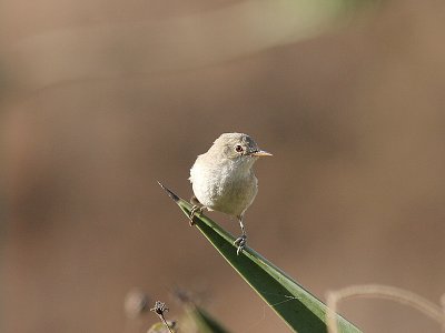
{"label": "blurred brown background behind the bird and leaf", "polygon": [[[256,164],[249,245],[322,300],[352,284],[438,303],[445,281],[445,2],[2,0],[2,332],[146,332],[176,286],[234,332],[287,332],[157,184],[222,132]],[[234,234],[227,216],[210,216]],[[439,332],[387,301],[366,332]]]}

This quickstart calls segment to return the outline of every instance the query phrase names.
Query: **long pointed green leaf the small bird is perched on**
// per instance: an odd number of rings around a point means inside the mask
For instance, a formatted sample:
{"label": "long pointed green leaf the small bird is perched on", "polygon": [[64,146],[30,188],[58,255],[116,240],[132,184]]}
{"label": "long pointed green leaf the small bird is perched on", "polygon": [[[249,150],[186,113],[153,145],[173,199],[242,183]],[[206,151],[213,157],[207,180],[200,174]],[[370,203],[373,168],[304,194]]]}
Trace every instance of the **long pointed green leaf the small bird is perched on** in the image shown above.
{"label": "long pointed green leaf the small bird is perched on", "polygon": [[[192,205],[162,184],[160,185],[189,216]],[[327,306],[322,301],[254,250],[246,248],[240,255],[237,255],[234,236],[209,218],[202,214],[196,215],[194,222],[239,275],[291,330],[300,333],[327,332]],[[336,316],[339,332],[360,332],[343,316],[338,314]]]}

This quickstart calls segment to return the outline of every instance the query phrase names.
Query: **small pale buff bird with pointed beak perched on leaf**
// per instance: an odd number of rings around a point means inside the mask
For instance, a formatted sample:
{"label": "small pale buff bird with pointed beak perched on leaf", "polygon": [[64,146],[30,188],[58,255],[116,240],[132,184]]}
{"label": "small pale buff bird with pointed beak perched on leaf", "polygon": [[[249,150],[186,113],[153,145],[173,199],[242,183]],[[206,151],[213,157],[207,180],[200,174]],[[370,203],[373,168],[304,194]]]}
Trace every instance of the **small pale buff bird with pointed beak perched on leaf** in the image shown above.
{"label": "small pale buff bird with pointed beak perched on leaf", "polygon": [[224,133],[206,153],[198,155],[190,169],[189,180],[195,194],[191,198],[190,225],[195,214],[204,210],[235,216],[241,228],[241,235],[234,242],[238,255],[246,246],[243,216],[258,192],[253,167],[260,157],[271,154],[260,150],[249,135]]}

